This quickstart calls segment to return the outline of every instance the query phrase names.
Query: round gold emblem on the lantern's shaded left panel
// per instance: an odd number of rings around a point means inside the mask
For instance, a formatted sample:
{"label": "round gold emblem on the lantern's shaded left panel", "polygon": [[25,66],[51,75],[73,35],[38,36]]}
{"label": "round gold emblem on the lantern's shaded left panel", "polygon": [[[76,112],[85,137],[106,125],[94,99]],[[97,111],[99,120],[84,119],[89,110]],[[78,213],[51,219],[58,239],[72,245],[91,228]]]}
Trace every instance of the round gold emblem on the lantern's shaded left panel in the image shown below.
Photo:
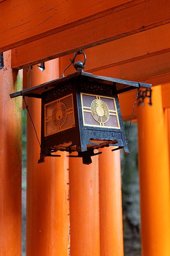
{"label": "round gold emblem on the lantern's shaded left panel", "polygon": [[52,121],[55,126],[60,127],[65,123],[67,117],[67,108],[64,103],[59,102],[55,105],[52,112]]}

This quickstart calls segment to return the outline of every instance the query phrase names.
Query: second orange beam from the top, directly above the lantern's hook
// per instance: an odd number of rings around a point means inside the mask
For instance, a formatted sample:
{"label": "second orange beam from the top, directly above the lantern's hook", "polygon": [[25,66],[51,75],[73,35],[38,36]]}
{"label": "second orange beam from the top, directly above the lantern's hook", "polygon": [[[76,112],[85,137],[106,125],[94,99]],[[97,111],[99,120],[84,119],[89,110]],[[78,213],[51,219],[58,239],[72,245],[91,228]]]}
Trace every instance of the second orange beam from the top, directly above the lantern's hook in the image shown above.
{"label": "second orange beam from the top, directly above the lantern's hook", "polygon": [[12,67],[23,68],[170,23],[170,1],[147,0],[13,50]]}

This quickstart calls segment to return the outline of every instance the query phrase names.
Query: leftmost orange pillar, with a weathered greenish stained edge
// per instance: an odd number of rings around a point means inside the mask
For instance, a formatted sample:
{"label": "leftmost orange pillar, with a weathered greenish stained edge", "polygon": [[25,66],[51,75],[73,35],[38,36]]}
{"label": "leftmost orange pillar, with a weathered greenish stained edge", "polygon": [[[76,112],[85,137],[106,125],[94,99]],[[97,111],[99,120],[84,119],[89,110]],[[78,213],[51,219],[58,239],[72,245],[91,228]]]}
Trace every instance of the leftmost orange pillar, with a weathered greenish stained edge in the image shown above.
{"label": "leftmost orange pillar, with a weathered greenish stained edge", "polygon": [[[0,255],[21,255],[22,99],[9,94],[22,90],[11,70],[11,51],[4,52],[0,70]],[[16,80],[17,79],[17,80]]]}

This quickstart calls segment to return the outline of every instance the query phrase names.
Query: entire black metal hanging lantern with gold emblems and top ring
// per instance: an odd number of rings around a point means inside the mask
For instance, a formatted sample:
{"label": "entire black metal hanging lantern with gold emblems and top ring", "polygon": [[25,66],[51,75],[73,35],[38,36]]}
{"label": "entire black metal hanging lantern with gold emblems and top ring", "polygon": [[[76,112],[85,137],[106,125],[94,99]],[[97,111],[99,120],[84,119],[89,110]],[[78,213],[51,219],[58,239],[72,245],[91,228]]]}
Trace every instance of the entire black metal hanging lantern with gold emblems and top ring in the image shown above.
{"label": "entire black metal hanging lantern with gold emblems and top ring", "polygon": [[41,153],[38,163],[57,151],[77,151],[70,157],[82,157],[91,163],[94,149],[113,146],[129,154],[118,94],[151,84],[95,76],[83,71],[85,61],[72,63],[76,72],[68,76],[12,93],[11,98],[28,96],[42,99]]}

